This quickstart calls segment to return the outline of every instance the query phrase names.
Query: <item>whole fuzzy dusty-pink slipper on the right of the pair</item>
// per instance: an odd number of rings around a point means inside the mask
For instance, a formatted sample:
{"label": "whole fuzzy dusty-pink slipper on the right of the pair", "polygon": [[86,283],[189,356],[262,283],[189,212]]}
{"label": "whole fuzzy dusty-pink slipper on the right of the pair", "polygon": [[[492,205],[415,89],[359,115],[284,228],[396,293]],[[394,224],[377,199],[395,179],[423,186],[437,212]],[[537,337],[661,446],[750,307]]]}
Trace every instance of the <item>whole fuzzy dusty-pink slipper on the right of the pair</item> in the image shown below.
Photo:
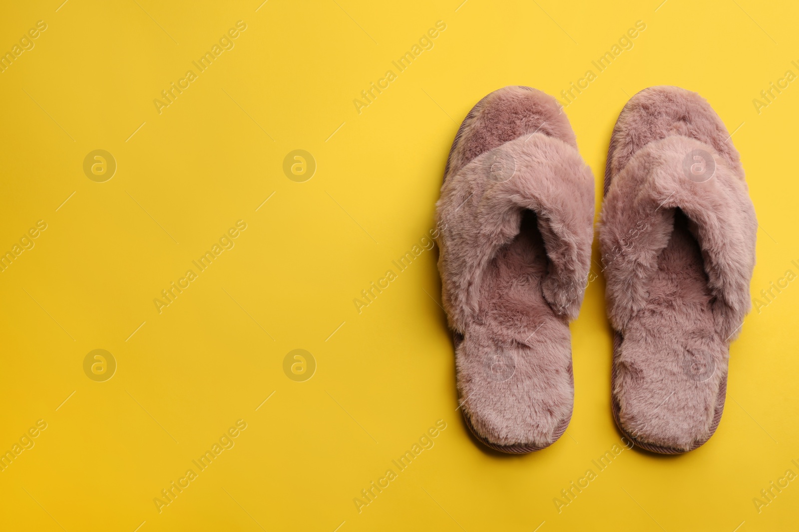
{"label": "whole fuzzy dusty-pink slipper on the right of the pair", "polygon": [[648,451],[705,443],[749,311],[757,220],[738,152],[697,93],[651,87],[618,117],[599,224],[614,328],[612,409]]}

